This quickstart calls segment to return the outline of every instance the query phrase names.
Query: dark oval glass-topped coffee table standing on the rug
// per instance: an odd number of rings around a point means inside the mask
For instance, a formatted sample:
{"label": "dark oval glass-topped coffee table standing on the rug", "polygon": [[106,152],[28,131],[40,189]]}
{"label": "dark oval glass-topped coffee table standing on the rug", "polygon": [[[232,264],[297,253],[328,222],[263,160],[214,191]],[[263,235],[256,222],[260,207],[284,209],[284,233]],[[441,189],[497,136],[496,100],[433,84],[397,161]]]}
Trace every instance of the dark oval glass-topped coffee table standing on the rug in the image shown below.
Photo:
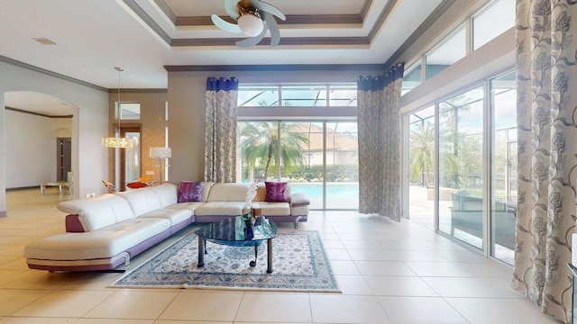
{"label": "dark oval glass-topped coffee table standing on the rug", "polygon": [[274,221],[258,217],[252,225],[244,216],[236,216],[206,224],[195,230],[195,234],[198,236],[198,267],[205,266],[206,241],[231,247],[254,247],[254,261],[250,266],[256,266],[259,246],[266,240],[267,273],[272,273],[272,238],[277,237]]}

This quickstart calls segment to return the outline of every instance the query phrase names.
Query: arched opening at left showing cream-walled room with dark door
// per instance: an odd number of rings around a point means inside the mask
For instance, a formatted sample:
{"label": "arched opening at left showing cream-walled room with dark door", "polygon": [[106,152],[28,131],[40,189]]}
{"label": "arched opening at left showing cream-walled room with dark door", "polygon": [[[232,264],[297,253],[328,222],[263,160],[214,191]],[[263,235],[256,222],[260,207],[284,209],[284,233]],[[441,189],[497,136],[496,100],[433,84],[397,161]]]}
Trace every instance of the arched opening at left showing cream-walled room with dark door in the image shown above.
{"label": "arched opening at left showing cream-walled room with dark door", "polygon": [[71,140],[72,175],[78,172],[78,137],[74,131],[78,129],[77,116],[75,104],[50,94],[5,93],[5,191],[55,182],[59,138]]}

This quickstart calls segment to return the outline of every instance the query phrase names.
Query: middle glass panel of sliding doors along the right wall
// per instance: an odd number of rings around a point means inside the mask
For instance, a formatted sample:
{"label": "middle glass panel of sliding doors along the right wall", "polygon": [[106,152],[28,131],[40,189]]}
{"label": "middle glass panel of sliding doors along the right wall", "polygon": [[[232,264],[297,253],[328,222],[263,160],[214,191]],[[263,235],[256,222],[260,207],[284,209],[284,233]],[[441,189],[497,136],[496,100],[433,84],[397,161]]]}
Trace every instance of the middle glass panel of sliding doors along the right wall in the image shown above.
{"label": "middle glass panel of sliding doors along the right wall", "polygon": [[438,104],[439,230],[483,247],[483,87]]}

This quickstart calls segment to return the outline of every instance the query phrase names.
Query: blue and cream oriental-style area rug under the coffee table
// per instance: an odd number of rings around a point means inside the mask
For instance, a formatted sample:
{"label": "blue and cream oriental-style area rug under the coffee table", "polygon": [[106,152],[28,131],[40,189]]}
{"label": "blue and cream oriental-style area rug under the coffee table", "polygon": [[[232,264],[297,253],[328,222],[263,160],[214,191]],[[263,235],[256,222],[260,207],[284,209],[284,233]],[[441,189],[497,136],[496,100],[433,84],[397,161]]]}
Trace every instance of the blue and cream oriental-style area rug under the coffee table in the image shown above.
{"label": "blue and cream oriental-style area rug under the coffee table", "polygon": [[112,286],[340,293],[317,231],[279,230],[272,244],[272,274],[266,272],[266,242],[259,247],[254,267],[249,266],[254,260],[254,247],[207,242],[205,266],[198,268],[198,238],[190,233]]}

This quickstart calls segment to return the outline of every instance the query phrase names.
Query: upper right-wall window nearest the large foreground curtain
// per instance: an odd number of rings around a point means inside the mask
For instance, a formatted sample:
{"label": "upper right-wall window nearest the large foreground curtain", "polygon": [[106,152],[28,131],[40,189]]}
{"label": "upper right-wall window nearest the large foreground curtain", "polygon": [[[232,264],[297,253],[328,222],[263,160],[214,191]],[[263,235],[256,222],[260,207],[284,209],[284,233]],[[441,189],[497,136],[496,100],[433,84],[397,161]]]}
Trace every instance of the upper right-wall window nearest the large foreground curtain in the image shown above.
{"label": "upper right-wall window nearest the large foreground curtain", "polygon": [[497,0],[472,17],[473,50],[515,25],[515,1]]}

